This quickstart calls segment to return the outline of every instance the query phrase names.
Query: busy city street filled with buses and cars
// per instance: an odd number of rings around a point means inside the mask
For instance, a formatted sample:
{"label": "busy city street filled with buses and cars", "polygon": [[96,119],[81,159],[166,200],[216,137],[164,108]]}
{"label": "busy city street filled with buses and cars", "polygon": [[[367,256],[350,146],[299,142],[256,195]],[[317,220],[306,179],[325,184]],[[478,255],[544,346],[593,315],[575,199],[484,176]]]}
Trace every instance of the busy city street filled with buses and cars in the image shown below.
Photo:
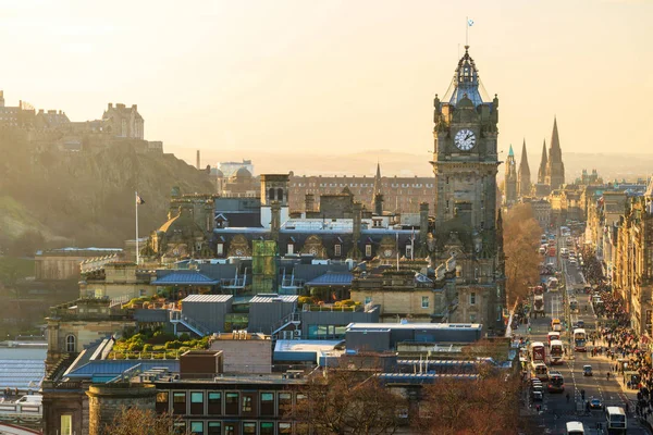
{"label": "busy city street filled with buses and cars", "polygon": [[[558,248],[565,246],[565,239],[558,240]],[[559,249],[558,249],[559,251]],[[558,263],[556,258],[546,258],[547,262]],[[560,288],[558,291],[547,291],[544,295],[545,316],[531,319],[531,341],[543,341],[547,344],[546,334],[551,331],[551,320],[557,316],[562,321],[565,318],[565,307],[563,304],[563,291],[568,295],[574,295],[574,285],[582,284],[582,275],[579,266],[569,264],[567,260],[559,259],[562,270],[565,276],[566,288]],[[562,286],[560,286],[562,287]],[[572,324],[578,320],[584,321],[584,328],[588,333],[595,331],[597,319],[594,315],[589,296],[581,290],[577,295],[579,313],[571,314]],[[559,371],[565,378],[565,393],[545,393],[542,405],[543,433],[564,434],[565,423],[568,421],[582,421],[588,430],[593,430],[590,433],[596,433],[597,423],[603,423],[605,417],[603,411],[595,410],[586,412],[584,402],[581,399],[581,390],[584,390],[586,400],[590,398],[599,398],[605,406],[619,406],[625,408],[627,400],[620,385],[611,374],[611,378],[606,378],[609,360],[605,356],[591,357],[591,352],[575,352],[574,347],[569,346],[570,334],[567,334],[565,328],[560,334],[560,338],[565,344],[567,357],[560,365],[550,365],[550,370]],[[599,346],[599,344],[596,344]],[[588,350],[592,349],[592,341],[588,340]],[[592,365],[593,376],[583,376],[583,365]],[[612,363],[614,365],[614,363]],[[545,388],[546,389],[546,388]],[[566,395],[570,396],[567,402]],[[629,393],[632,398],[632,393]],[[633,405],[630,406],[632,412]],[[639,435],[649,434],[646,428],[643,428],[633,418],[628,419],[628,434]]]}

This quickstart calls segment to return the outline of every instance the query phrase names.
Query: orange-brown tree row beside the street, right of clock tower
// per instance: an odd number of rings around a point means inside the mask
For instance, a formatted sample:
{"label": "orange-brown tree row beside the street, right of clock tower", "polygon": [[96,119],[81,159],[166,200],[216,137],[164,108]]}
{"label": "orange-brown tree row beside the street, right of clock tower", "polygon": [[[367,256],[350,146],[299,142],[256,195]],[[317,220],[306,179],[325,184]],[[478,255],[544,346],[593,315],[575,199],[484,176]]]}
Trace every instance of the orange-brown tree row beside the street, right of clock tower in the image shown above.
{"label": "orange-brown tree row beside the street, right of clock tower", "polygon": [[512,304],[528,297],[528,287],[540,282],[540,235],[542,228],[529,203],[516,204],[504,220],[506,294]]}

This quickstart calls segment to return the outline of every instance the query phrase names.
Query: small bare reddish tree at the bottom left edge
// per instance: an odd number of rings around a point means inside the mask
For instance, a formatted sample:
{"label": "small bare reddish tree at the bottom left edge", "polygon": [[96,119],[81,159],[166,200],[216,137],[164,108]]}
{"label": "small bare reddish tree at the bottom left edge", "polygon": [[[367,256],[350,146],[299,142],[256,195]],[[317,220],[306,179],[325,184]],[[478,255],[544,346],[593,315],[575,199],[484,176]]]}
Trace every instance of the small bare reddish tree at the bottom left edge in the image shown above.
{"label": "small bare reddish tree at the bottom left edge", "polygon": [[111,424],[104,426],[103,435],[174,435],[174,424],[180,418],[158,414],[149,409],[122,407]]}

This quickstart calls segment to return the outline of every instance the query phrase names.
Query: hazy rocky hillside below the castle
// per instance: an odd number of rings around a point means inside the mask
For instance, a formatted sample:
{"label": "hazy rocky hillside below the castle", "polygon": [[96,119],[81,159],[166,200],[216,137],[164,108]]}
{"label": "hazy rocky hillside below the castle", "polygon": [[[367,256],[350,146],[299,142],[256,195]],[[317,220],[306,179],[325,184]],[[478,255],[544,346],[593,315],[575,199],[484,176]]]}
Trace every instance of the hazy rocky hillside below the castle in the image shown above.
{"label": "hazy rocky hillside below the castle", "polygon": [[173,186],[212,191],[206,172],[173,154],[136,153],[128,142],[35,152],[25,135],[2,132],[0,152],[0,246],[38,232],[50,246],[122,247],[135,235],[135,190],[146,201],[140,236],[164,222]]}

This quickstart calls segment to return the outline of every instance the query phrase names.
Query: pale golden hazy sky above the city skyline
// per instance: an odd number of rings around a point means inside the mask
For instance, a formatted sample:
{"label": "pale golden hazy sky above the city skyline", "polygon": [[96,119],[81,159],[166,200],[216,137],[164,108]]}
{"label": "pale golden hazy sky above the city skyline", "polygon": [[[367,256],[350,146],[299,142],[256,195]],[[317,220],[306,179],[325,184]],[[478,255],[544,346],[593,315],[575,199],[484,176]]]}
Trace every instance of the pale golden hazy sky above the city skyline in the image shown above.
{"label": "pale golden hazy sky above the city skyline", "polygon": [[71,121],[137,103],[189,161],[428,161],[467,16],[500,148],[526,138],[531,172],[554,116],[563,153],[652,152],[653,0],[0,0],[0,89]]}

